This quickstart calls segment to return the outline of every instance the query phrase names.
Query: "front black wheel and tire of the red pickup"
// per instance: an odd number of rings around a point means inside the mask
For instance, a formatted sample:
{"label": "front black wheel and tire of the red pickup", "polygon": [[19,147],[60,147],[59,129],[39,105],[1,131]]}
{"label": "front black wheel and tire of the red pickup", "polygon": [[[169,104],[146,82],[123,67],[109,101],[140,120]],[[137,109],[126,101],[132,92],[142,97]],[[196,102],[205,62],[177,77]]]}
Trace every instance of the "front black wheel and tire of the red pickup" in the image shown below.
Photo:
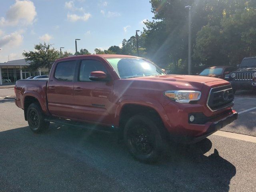
{"label": "front black wheel and tire of the red pickup", "polygon": [[140,162],[156,162],[164,150],[161,128],[144,115],[131,117],[124,127],[129,152]]}

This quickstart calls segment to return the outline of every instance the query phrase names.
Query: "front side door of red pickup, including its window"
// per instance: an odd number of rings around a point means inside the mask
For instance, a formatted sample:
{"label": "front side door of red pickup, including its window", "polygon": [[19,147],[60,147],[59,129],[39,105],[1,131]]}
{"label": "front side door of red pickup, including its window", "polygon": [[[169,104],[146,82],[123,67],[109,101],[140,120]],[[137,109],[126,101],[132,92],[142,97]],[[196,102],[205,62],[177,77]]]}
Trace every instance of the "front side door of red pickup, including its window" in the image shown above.
{"label": "front side door of red pickup, including its window", "polygon": [[90,72],[103,71],[109,74],[98,60],[82,60],[74,82],[74,114],[76,119],[87,122],[111,124],[113,81],[96,82],[89,79]]}

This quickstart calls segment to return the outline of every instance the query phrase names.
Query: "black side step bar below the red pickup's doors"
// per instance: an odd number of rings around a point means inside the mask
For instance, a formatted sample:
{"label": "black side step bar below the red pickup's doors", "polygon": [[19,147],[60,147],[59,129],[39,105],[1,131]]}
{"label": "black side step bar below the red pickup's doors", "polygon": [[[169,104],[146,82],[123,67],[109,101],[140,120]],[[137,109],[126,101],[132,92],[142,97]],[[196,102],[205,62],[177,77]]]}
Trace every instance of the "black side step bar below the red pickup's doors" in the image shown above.
{"label": "black side step bar below the red pickup's doors", "polygon": [[77,121],[60,119],[60,118],[46,118],[44,119],[44,121],[67,125],[67,126],[75,126],[79,128],[85,128],[88,130],[95,130],[95,131],[106,132],[106,133],[116,132],[118,130],[117,128],[114,128],[114,127],[102,126],[98,124],[90,124],[85,122],[77,122]]}

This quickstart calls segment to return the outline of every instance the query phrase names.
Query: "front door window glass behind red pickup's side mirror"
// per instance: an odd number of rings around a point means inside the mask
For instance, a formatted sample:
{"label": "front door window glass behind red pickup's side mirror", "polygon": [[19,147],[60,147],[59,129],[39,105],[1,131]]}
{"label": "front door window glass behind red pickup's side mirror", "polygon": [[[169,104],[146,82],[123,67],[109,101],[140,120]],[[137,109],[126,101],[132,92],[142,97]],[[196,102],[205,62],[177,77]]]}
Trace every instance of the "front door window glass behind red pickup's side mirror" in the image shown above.
{"label": "front door window glass behind red pickup's side mirror", "polygon": [[107,74],[106,68],[103,64],[96,60],[82,60],[79,72],[79,81],[91,81],[89,79],[90,72],[103,71]]}

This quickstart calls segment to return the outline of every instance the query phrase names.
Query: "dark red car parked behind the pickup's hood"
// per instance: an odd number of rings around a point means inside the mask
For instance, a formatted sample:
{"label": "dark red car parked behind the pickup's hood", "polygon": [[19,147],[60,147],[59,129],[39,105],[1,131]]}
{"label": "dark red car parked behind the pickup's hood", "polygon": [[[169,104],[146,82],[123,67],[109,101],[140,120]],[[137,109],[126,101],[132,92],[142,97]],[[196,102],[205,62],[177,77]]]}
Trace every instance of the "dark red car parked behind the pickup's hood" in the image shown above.
{"label": "dark red car parked behind the pickup's hood", "polygon": [[234,70],[236,70],[235,67],[214,66],[204,69],[199,75],[225,79],[225,75],[230,74]]}

